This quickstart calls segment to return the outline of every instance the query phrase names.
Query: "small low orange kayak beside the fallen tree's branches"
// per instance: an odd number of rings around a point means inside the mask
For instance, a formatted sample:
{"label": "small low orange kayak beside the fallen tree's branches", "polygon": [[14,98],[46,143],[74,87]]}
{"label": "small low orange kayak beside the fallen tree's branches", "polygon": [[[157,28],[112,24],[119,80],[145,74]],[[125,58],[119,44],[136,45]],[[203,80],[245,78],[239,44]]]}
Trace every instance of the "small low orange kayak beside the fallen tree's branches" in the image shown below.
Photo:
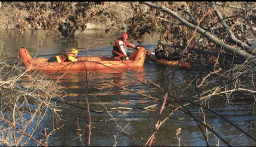
{"label": "small low orange kayak beside the fallen tree's branches", "polygon": [[[165,59],[157,59],[157,58],[155,57],[155,55],[152,54],[152,53],[153,53],[152,51],[151,51],[151,52],[148,52],[148,53],[147,53],[148,57],[149,57],[151,60],[153,60],[153,61],[155,61],[155,62],[157,62],[157,63],[159,63],[159,64],[169,65],[169,66],[176,66],[176,65],[178,64],[178,61],[177,61],[177,60],[172,61],[172,60],[165,60]],[[185,67],[186,69],[190,69],[190,65],[189,65],[188,63],[184,63],[184,62],[183,62],[183,63],[180,63],[179,67]]]}

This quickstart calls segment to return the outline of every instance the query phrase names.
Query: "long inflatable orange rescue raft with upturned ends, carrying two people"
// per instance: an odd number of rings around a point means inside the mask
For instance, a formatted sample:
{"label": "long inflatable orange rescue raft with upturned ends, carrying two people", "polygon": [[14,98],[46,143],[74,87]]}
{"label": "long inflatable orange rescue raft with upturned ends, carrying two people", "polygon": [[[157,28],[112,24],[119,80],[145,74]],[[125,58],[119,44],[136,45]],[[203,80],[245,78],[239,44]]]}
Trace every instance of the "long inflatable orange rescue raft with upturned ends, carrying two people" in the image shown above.
{"label": "long inflatable orange rescue raft with upturned ends, carrying two people", "polygon": [[[82,61],[76,62],[46,62],[49,58],[32,58],[25,47],[21,47],[19,55],[23,64],[29,70],[81,70],[81,69],[108,69],[109,67],[123,69],[123,68],[139,68],[143,67],[146,49],[140,46],[138,51],[134,51],[128,61],[114,61],[110,57],[78,57]],[[109,66],[109,67],[108,67]]]}

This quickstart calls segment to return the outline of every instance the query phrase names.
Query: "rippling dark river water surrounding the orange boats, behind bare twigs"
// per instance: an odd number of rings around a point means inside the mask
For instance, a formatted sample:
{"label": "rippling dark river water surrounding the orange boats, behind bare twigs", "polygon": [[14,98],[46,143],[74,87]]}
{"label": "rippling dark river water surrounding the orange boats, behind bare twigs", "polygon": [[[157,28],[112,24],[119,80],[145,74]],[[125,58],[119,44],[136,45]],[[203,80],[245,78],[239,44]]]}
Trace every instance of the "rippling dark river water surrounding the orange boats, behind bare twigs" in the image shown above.
{"label": "rippling dark river water surrounding the orange boats, behind bare twigs", "polygon": [[[15,30],[0,30],[0,40],[5,42],[4,51],[6,53],[6,59],[12,60],[17,58],[18,49],[20,47],[26,47],[32,55],[44,55],[50,56],[63,49],[69,50],[71,47],[77,46],[79,48],[89,48],[91,55],[110,56],[114,39],[119,37],[119,31],[111,31],[111,34],[106,34],[104,30],[85,30],[84,32],[76,32],[76,35],[72,39],[63,39],[53,37],[49,40],[47,36],[48,31],[43,30],[28,30],[23,35],[18,35]],[[142,39],[142,45],[151,51],[157,44],[160,34],[151,33]],[[139,45],[136,41],[131,40],[135,45]],[[41,44],[41,47],[38,46]],[[37,52],[38,51],[38,52]],[[132,50],[128,50],[128,53],[132,53]],[[88,55],[87,51],[80,51],[79,56]],[[199,71],[200,66],[194,65],[195,72]],[[158,65],[146,58],[144,67],[134,69],[139,72],[144,78],[155,81],[163,89],[167,89],[171,76],[165,78],[172,73],[174,67],[167,67]],[[137,73],[131,69],[122,69],[124,73],[127,73],[139,80],[143,80]],[[201,69],[199,77],[206,76],[210,69]],[[57,73],[57,76],[61,76],[63,73]],[[164,94],[158,93],[152,90],[150,87],[134,80],[122,73],[114,70],[95,70],[95,74],[103,80],[128,88],[133,89],[138,93],[151,95],[156,98],[162,99]],[[47,76],[52,78],[54,72],[47,72]],[[174,84],[171,87],[172,93],[175,95],[181,95],[193,100],[196,98],[196,90],[193,84],[189,85],[193,80],[194,72],[192,70],[177,69]],[[215,79],[212,84],[220,82],[221,79]],[[82,108],[86,108],[86,91],[88,91],[88,98],[90,102],[90,108],[92,110],[105,110],[103,105],[110,110],[110,108],[128,107],[132,110],[111,110],[110,114],[107,112],[98,114],[91,112],[92,119],[92,133],[91,133],[91,146],[143,146],[145,141],[149,139],[154,130],[154,125],[158,118],[160,111],[160,105],[157,105],[154,109],[142,110],[141,108],[159,104],[159,102],[145,98],[138,94],[125,91],[123,89],[114,87],[110,83],[102,82],[92,74],[85,71],[70,71],[62,79],[60,79],[62,86],[66,87],[65,91],[69,94],[69,97],[65,100],[69,104],[75,104]],[[93,96],[93,95],[94,96]],[[238,95],[241,97],[241,95]],[[253,98],[251,95],[245,96]],[[174,99],[169,98],[167,101],[171,104],[179,105]],[[251,136],[256,136],[256,117],[254,112],[254,101],[233,101],[227,102],[226,97],[218,96],[213,97],[209,103],[209,108],[218,114],[224,116],[229,121],[246,131]],[[199,120],[203,120],[202,114],[199,113],[199,107],[195,105],[186,106],[191,111],[194,117]],[[59,122],[58,126],[64,122],[66,126],[62,129],[55,131],[55,134],[50,136],[50,146],[84,146],[79,139],[78,125],[82,130],[87,129],[88,113],[78,107],[70,105],[63,105],[63,119],[65,121]],[[165,107],[161,120],[168,116],[173,109],[171,107]],[[206,121],[218,133],[224,140],[226,140],[231,146],[256,146],[256,142],[249,137],[242,134],[233,126],[231,126],[224,119],[217,117],[215,114],[204,110],[206,113]],[[43,126],[51,128],[56,127],[54,120],[51,117],[46,117]],[[123,135],[118,133],[120,128],[124,129],[129,135]],[[202,129],[204,127],[201,125]],[[154,146],[178,146],[178,140],[176,136],[176,130],[181,128],[180,137],[181,146],[206,146],[206,141],[199,129],[197,123],[192,117],[177,111],[161,126],[160,130],[156,133]],[[82,131],[79,132],[83,134]],[[87,141],[87,135],[82,135],[82,141]],[[226,146],[221,140],[218,139],[211,131],[208,130],[208,142],[210,146]]]}

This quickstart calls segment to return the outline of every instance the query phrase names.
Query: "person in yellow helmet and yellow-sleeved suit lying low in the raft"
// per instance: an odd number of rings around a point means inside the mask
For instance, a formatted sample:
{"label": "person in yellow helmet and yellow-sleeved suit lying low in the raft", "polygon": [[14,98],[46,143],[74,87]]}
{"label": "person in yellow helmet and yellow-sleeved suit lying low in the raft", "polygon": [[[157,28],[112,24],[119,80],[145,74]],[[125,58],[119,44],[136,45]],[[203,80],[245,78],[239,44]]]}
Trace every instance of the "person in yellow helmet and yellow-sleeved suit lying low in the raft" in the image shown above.
{"label": "person in yellow helmet and yellow-sleeved suit lying low in the raft", "polygon": [[67,52],[64,55],[57,55],[54,56],[52,58],[50,58],[49,60],[47,60],[47,62],[75,62],[75,61],[80,61],[78,59],[76,59],[76,56],[78,55],[78,49],[73,48],[71,49],[71,52]]}

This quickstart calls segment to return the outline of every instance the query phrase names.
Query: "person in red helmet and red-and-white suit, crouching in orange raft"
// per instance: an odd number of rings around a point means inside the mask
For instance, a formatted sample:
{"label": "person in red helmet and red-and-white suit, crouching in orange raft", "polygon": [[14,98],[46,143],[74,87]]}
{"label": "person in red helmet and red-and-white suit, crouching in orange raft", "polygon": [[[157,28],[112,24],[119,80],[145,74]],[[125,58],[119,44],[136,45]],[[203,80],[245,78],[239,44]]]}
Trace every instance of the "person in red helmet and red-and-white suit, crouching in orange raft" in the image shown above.
{"label": "person in red helmet and red-and-white suit, crouching in orange raft", "polygon": [[113,47],[112,54],[114,56],[114,60],[129,60],[129,57],[126,53],[126,46],[139,50],[139,47],[129,43],[128,41],[128,34],[123,33],[121,38],[116,40],[116,43]]}

